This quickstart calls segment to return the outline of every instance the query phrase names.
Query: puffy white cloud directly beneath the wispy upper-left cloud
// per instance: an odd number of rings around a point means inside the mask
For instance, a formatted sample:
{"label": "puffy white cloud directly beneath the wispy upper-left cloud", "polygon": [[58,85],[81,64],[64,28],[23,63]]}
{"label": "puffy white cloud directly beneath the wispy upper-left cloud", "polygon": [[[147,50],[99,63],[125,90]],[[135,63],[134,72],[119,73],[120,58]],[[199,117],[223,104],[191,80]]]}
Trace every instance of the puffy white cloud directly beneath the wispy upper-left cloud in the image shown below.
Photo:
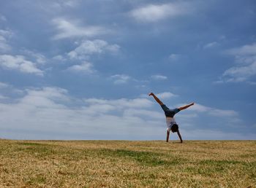
{"label": "puffy white cloud directly beneath the wispy upper-left cloud", "polygon": [[69,58],[72,59],[87,59],[90,55],[102,53],[117,53],[120,47],[117,44],[108,44],[103,40],[86,40],[68,53]]}

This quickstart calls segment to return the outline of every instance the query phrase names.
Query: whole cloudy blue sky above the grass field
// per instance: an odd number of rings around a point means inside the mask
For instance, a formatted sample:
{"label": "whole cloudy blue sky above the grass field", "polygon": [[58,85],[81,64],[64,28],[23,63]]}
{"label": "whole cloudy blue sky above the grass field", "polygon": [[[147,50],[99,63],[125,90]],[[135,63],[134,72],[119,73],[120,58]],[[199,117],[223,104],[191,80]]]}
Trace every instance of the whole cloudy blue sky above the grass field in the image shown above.
{"label": "whole cloudy blue sky above the grass field", "polygon": [[[254,0],[1,0],[0,138],[255,140]],[[176,133],[170,140],[177,140]]]}

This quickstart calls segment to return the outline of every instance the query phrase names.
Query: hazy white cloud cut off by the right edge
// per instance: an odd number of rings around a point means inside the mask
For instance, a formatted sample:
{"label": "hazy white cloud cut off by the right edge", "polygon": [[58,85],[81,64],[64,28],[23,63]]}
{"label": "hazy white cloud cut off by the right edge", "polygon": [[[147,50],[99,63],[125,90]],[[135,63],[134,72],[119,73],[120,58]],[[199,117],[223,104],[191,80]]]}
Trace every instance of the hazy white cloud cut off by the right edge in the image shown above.
{"label": "hazy white cloud cut off by the right edge", "polygon": [[256,44],[226,50],[226,53],[235,56],[238,65],[228,68],[219,83],[250,82],[249,79],[256,75]]}

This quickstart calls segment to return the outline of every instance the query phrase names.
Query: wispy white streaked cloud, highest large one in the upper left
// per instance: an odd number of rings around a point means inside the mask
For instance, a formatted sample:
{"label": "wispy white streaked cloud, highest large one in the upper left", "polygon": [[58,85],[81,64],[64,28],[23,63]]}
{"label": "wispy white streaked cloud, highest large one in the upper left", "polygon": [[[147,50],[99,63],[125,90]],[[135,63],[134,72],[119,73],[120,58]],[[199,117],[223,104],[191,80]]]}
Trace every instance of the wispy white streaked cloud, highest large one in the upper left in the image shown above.
{"label": "wispy white streaked cloud, highest large one in the upper left", "polygon": [[78,21],[64,18],[53,19],[53,24],[59,31],[59,34],[56,34],[53,39],[66,39],[75,36],[92,37],[108,33],[108,30],[101,26],[80,26]]}

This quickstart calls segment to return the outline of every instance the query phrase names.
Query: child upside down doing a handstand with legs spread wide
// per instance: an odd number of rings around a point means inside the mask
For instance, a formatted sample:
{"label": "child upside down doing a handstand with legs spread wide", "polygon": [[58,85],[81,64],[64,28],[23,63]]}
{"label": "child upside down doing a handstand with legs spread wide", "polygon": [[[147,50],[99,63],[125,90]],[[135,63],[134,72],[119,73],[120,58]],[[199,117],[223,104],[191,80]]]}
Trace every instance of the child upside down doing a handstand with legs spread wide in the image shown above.
{"label": "child upside down doing a handstand with legs spread wide", "polygon": [[162,103],[162,101],[159,100],[159,98],[157,98],[156,95],[154,95],[154,93],[149,93],[148,96],[153,96],[154,100],[157,101],[157,103],[159,103],[159,105],[162,107],[163,111],[165,111],[165,117],[166,117],[166,124],[167,124],[167,135],[166,135],[166,142],[169,141],[169,136],[170,136],[170,130],[175,133],[178,133],[178,138],[181,140],[182,143],[182,138],[181,138],[181,133],[178,130],[178,125],[174,119],[174,115],[178,113],[178,111],[184,110],[189,108],[189,106],[194,105],[194,103],[189,103],[186,106],[181,106],[178,109],[169,109],[167,106],[165,106],[164,103]]}

